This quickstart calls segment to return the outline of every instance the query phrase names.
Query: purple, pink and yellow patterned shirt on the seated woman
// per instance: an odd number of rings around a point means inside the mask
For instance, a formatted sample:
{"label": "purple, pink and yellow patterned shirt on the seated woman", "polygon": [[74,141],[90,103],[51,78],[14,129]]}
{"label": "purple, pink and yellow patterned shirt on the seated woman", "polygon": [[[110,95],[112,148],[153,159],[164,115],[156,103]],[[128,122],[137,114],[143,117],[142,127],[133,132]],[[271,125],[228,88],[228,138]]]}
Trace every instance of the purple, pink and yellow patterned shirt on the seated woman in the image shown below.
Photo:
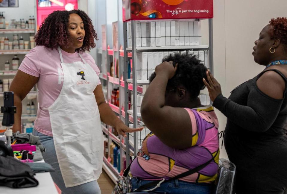
{"label": "purple, pink and yellow patterned shirt on the seated woman", "polygon": [[142,148],[130,166],[133,177],[145,180],[169,179],[214,157],[199,172],[180,180],[198,183],[215,181],[219,160],[218,119],[211,106],[185,110],[192,123],[192,145],[186,149],[171,148],[150,133],[143,140]]}

